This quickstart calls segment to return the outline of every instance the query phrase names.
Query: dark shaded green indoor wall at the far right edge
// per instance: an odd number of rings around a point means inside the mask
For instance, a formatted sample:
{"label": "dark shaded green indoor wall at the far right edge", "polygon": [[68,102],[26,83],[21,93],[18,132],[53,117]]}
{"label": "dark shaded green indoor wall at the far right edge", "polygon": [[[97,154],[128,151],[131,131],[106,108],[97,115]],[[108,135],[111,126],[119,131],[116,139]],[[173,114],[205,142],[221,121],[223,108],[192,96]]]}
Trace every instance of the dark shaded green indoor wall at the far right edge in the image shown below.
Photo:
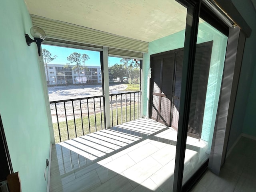
{"label": "dark shaded green indoor wall at the far right edge", "polygon": [[246,38],[228,149],[241,133],[256,136],[256,12],[250,0],[232,0],[237,10],[252,29]]}

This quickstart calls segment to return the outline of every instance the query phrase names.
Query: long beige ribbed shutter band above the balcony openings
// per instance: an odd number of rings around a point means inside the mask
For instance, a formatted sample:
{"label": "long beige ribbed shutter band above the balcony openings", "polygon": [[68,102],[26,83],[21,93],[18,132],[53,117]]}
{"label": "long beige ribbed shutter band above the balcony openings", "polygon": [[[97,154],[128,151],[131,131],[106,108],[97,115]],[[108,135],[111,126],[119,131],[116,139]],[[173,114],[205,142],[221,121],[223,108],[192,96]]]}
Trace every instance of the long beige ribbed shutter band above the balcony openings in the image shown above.
{"label": "long beige ribbed shutter band above the balcony openings", "polygon": [[[148,42],[117,36],[65,22],[31,15],[34,26],[42,28],[47,38],[74,41],[109,48],[147,53]],[[115,54],[116,55],[116,54]]]}

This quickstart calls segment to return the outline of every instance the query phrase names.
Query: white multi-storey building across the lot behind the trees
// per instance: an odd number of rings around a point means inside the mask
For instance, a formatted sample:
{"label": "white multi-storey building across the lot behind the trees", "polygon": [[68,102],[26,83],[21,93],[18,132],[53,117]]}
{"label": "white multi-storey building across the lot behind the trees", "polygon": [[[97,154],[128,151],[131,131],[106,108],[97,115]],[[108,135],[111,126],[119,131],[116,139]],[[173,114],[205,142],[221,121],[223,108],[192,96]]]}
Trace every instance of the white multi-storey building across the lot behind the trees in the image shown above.
{"label": "white multi-storey building across the lot behind the trees", "polygon": [[[46,66],[45,74],[46,80],[47,71]],[[77,70],[73,70],[72,66],[70,68],[64,68],[64,65],[60,64],[48,64],[48,76],[49,85],[61,85],[61,84],[79,84],[79,83],[101,83],[101,68],[99,66],[87,66],[87,70],[80,70],[79,75]],[[80,77],[80,79],[79,79]]]}

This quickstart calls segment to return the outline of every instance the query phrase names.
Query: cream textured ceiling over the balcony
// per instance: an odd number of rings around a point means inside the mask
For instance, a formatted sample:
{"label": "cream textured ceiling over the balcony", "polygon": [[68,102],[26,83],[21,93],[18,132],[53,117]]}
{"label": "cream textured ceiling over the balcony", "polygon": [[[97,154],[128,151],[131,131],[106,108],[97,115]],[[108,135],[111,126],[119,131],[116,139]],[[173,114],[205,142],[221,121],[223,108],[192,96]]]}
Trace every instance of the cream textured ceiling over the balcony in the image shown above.
{"label": "cream textured ceiling over the balcony", "polygon": [[185,29],[175,0],[24,0],[30,14],[151,42]]}

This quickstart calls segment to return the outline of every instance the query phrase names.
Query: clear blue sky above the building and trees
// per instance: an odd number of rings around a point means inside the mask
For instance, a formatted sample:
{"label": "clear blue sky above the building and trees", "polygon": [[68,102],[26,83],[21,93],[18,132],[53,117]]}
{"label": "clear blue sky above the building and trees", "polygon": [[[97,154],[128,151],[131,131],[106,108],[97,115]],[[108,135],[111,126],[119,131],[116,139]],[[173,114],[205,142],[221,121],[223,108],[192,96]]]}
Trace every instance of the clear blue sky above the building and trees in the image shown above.
{"label": "clear blue sky above the building and trees", "polygon": [[[52,56],[56,55],[57,57],[49,62],[49,64],[62,64],[65,65],[70,63],[67,60],[67,57],[73,52],[77,52],[80,54],[87,54],[90,58],[85,62],[86,66],[100,66],[100,52],[99,51],[91,51],[91,50],[83,50],[76,48],[67,48],[60,46],[52,46],[52,45],[44,45],[42,44],[42,49],[48,50]],[[108,57],[109,66],[112,66],[116,63],[120,64],[120,60],[122,58],[117,57]],[[71,64],[72,65],[72,64]]]}

